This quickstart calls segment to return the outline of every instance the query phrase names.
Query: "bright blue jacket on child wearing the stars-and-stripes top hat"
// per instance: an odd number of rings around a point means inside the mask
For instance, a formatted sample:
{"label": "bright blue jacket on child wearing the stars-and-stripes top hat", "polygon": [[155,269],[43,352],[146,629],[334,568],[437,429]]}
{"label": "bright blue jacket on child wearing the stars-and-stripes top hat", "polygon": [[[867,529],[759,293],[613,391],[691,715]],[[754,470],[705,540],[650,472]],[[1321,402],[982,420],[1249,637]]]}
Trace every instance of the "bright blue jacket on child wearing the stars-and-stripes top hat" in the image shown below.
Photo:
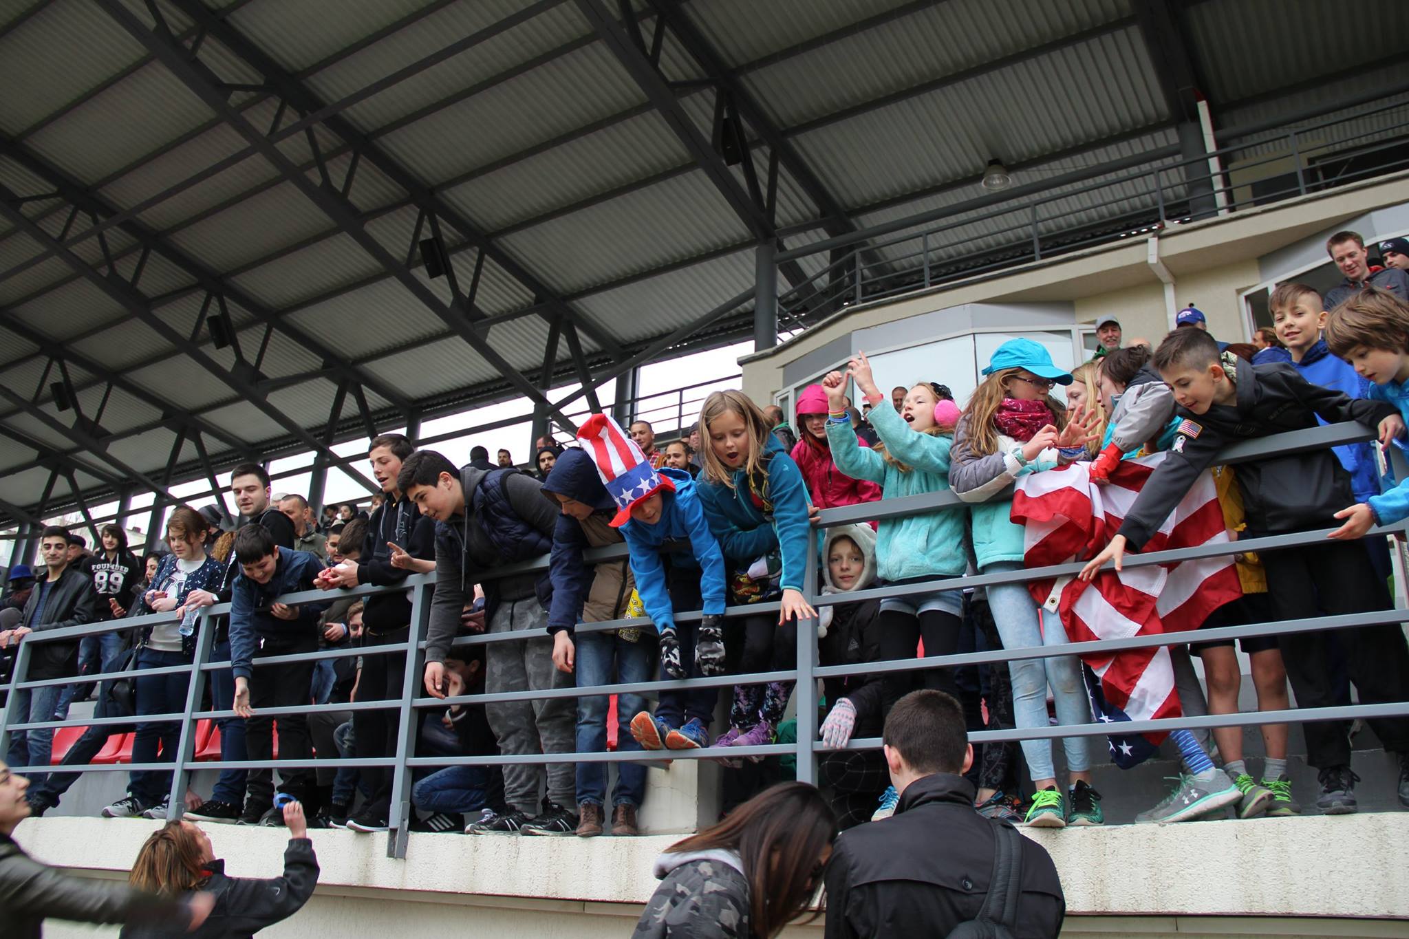
{"label": "bright blue jacket on child wearing the stars-and-stripes top hat", "polygon": [[[671,593],[665,583],[665,565],[661,563],[661,545],[668,541],[689,539],[690,552],[676,552],[671,563],[700,569],[700,607],[706,614],[724,612],[724,555],[704,521],[704,507],[695,480],[683,470],[661,467],[661,476],[675,484],[675,491],[661,491],[661,518],[654,525],[634,518],[621,525],[621,535],[631,550],[631,573],[635,574],[635,591],[641,605],[655,621],[657,629],[675,628],[675,610],[671,607]],[[693,562],[693,563],[692,563]]]}

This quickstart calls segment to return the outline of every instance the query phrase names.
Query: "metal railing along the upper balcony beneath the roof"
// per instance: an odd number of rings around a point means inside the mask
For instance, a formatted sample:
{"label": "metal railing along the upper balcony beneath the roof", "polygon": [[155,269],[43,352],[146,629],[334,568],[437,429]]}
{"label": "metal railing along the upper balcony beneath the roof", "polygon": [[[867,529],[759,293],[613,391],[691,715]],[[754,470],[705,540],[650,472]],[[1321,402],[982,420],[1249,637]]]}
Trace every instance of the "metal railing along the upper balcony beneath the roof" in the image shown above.
{"label": "metal railing along the upper balcony beneath the roof", "polygon": [[1220,137],[1246,142],[1184,160],[1178,146],[1158,148],[1116,160],[1110,172],[1076,170],[778,252],[775,263],[830,252],[817,273],[779,296],[779,320],[816,320],[845,305],[1406,169],[1409,103],[1291,130],[1233,128]]}

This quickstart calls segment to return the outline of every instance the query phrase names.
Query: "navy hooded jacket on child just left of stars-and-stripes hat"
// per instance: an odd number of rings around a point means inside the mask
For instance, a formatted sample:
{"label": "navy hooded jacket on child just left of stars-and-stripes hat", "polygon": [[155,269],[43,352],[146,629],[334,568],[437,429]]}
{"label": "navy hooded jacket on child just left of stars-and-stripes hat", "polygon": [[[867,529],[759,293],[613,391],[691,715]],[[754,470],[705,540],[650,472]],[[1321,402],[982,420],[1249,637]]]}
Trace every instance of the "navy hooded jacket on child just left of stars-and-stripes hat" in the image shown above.
{"label": "navy hooded jacket on child just left of stars-and-stripes hat", "polygon": [[[597,474],[597,465],[582,449],[569,448],[558,456],[548,479],[542,481],[542,493],[555,505],[561,504],[552,493],[566,496],[596,510],[602,517],[599,528],[609,528],[609,522],[616,515],[617,505],[607,494],[602,477]],[[610,529],[619,535],[620,529]],[[582,559],[582,552],[592,548],[588,534],[582,529],[582,522],[559,511],[558,521],[552,529],[552,552],[548,555],[548,574],[552,579],[552,605],[548,608],[548,632],[571,631],[582,618],[582,608],[592,583],[597,577],[597,565],[589,565]],[[621,565],[624,560],[603,562]]]}

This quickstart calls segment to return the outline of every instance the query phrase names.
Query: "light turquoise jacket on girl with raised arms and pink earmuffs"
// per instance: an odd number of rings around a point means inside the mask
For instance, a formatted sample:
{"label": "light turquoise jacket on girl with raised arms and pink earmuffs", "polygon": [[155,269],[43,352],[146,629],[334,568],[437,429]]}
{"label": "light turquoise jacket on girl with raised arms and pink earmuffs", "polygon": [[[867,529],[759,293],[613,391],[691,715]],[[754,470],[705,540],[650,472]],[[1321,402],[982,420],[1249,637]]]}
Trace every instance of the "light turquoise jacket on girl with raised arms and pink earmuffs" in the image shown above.
{"label": "light turquoise jacket on girl with raised arms and pink earmuffs", "polygon": [[[882,498],[936,493],[950,487],[948,436],[916,434],[895,408],[885,404],[871,408],[871,425],[886,452],[910,467],[902,473],[875,450],[857,446],[850,424],[827,421],[827,439],[837,469],[852,479],[881,484]],[[933,512],[886,518],[876,538],[876,573],[882,580],[909,577],[954,577],[964,573],[967,508],[941,508]]]}

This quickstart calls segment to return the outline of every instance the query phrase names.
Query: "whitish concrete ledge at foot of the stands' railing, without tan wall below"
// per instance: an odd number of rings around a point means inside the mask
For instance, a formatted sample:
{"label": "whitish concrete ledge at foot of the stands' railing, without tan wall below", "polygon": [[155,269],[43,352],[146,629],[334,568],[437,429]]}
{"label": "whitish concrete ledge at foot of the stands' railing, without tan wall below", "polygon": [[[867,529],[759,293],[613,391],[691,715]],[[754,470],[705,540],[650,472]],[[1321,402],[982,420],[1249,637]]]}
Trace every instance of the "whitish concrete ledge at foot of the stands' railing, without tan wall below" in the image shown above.
{"label": "whitish concrete ledge at foot of the stands' railing, without tan wall below", "polygon": [[[111,876],[130,870],[154,828],[156,822],[137,819],[44,818],[25,821],[15,836],[46,863]],[[280,870],[282,832],[207,831],[231,874]],[[1409,919],[1409,812],[1027,835],[1051,852],[1074,916]],[[513,905],[562,909],[566,902],[579,914],[603,904],[640,909],[657,886],[652,860],[675,840],[411,835],[407,859],[393,860],[385,856],[385,836],[317,831],[311,838],[323,869],[320,897],[497,908],[517,898]],[[1399,926],[1399,935],[1409,935]]]}

